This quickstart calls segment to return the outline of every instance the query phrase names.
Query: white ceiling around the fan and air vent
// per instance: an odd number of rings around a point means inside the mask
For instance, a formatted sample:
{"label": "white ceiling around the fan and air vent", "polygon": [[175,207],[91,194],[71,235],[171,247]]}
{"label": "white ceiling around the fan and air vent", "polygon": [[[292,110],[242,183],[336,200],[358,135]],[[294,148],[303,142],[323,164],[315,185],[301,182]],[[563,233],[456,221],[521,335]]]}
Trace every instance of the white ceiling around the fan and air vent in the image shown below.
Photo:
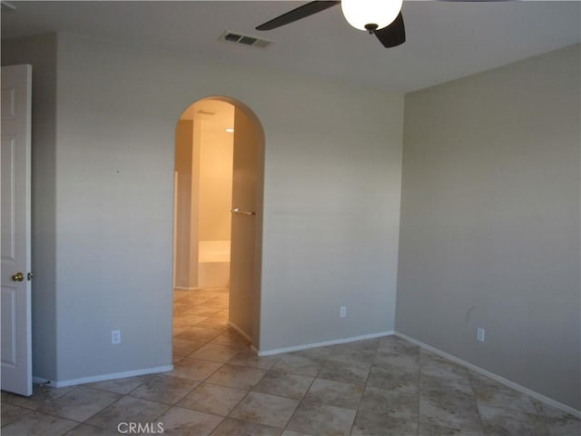
{"label": "white ceiling around the fan and air vent", "polygon": [[[9,0],[10,1],[10,0]],[[64,31],[218,62],[314,74],[412,91],[581,41],[581,2],[405,1],[407,42],[385,49],[332,7],[270,32],[256,25],[306,2],[18,2],[2,38]],[[218,41],[223,31],[273,41],[266,49]]]}

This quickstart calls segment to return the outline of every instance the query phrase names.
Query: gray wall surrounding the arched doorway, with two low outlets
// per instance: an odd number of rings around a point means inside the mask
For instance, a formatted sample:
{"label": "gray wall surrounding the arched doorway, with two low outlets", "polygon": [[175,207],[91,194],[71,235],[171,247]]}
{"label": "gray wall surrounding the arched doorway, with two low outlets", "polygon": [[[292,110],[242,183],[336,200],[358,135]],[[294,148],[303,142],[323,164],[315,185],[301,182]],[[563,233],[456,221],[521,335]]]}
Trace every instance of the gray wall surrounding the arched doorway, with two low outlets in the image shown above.
{"label": "gray wall surrounding the arched doorway, with two low outlets", "polygon": [[[54,159],[33,170],[54,177],[37,216],[54,232],[35,245],[53,254],[34,259],[54,279],[34,287],[53,300],[35,310],[52,332],[44,348],[53,362],[35,353],[35,375],[74,381],[171,364],[174,132],[208,95],[247,104],[265,132],[255,345],[269,352],[393,330],[402,94],[74,35],[57,35],[55,46],[56,111],[43,110]],[[28,43],[3,42],[3,64],[35,55]],[[39,64],[34,74],[52,73]],[[110,344],[113,329],[121,345]]]}

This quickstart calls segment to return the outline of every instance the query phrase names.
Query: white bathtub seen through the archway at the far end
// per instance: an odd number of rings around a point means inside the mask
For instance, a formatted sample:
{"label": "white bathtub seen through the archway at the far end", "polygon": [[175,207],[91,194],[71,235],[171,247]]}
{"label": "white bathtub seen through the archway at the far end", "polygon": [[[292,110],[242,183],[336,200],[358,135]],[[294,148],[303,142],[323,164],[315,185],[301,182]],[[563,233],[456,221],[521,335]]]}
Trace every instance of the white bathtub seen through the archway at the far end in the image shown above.
{"label": "white bathtub seen through the archway at the far end", "polygon": [[198,243],[198,287],[214,288],[230,284],[230,241]]}

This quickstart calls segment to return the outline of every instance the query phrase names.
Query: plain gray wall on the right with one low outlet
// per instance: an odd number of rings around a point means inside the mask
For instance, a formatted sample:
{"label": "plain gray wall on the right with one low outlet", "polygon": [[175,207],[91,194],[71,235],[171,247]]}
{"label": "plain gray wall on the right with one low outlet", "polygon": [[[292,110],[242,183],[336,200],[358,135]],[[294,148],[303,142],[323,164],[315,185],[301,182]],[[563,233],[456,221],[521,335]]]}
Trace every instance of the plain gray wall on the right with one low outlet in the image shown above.
{"label": "plain gray wall on the right with one low outlet", "polygon": [[406,96],[396,322],[576,409],[579,65],[575,45]]}

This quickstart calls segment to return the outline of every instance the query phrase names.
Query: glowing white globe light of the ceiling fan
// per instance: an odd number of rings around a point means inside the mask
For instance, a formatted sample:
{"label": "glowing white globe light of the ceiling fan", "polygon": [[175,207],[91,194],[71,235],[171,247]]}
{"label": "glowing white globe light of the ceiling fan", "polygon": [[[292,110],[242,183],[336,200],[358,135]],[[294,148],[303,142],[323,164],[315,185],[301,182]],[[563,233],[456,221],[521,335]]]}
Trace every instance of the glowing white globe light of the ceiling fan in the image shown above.
{"label": "glowing white globe light of the ceiling fan", "polygon": [[398,17],[403,0],[342,0],[347,22],[369,32],[387,27]]}

